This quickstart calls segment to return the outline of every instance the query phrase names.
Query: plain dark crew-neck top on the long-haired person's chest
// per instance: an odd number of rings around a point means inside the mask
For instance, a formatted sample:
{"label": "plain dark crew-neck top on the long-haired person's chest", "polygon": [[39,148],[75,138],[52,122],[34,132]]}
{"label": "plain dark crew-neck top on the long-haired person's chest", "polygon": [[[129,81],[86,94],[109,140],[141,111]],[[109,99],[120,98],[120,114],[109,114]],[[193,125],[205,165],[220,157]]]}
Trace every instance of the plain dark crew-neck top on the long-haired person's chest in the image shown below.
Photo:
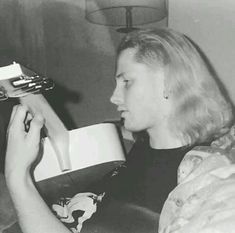
{"label": "plain dark crew-neck top on the long-haired person's chest", "polygon": [[112,178],[106,195],[160,213],[177,185],[177,169],[190,147],[153,149],[148,139],[131,149],[125,166]]}

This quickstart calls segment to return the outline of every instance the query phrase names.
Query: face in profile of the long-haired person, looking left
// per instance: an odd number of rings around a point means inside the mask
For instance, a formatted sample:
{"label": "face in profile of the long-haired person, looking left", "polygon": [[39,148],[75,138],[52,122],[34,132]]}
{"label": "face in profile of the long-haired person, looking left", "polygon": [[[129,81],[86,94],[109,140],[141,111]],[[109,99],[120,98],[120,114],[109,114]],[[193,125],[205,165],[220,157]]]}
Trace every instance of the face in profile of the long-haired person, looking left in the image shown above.
{"label": "face in profile of the long-haired person, looking left", "polygon": [[132,132],[157,129],[166,121],[170,106],[164,98],[164,71],[135,60],[136,49],[121,52],[117,61],[116,88],[111,102]]}

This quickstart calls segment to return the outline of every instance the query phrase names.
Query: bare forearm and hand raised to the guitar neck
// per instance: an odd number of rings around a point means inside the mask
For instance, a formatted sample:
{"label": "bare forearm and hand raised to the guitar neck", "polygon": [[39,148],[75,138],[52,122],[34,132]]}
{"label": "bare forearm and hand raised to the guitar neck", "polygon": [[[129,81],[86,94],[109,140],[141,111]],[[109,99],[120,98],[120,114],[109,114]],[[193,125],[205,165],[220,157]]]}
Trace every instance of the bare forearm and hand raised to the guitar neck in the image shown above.
{"label": "bare forearm and hand raised to the guitar neck", "polygon": [[[25,123],[30,122],[28,132]],[[25,106],[15,106],[8,128],[5,176],[24,233],[70,232],[50,211],[36,190],[30,168],[40,147],[42,116],[31,116]]]}

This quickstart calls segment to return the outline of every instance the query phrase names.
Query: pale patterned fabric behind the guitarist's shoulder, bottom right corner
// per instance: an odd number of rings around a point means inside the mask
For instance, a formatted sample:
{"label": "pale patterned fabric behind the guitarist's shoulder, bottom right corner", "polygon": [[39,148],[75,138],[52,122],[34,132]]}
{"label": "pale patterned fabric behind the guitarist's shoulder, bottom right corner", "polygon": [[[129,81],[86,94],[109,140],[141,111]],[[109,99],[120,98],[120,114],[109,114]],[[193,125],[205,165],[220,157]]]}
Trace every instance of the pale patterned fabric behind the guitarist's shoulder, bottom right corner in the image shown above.
{"label": "pale patterned fabric behind the guitarist's shoulder, bottom right corner", "polygon": [[235,128],[189,151],[160,215],[159,233],[235,232]]}

